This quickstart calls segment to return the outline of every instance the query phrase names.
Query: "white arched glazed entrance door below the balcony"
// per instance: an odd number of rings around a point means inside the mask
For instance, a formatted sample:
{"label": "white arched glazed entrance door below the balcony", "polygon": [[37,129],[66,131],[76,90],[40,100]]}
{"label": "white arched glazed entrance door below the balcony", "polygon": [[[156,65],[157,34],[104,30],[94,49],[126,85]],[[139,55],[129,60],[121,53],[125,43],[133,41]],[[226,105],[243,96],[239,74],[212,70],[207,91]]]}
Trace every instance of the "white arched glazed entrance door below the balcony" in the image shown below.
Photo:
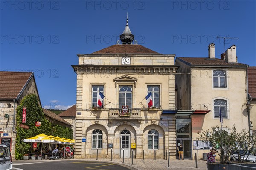
{"label": "white arched glazed entrance door below the balcony", "polygon": [[131,145],[131,135],[130,132],[128,130],[123,130],[120,134],[120,156],[121,158],[124,157],[125,158],[130,158],[130,145]]}

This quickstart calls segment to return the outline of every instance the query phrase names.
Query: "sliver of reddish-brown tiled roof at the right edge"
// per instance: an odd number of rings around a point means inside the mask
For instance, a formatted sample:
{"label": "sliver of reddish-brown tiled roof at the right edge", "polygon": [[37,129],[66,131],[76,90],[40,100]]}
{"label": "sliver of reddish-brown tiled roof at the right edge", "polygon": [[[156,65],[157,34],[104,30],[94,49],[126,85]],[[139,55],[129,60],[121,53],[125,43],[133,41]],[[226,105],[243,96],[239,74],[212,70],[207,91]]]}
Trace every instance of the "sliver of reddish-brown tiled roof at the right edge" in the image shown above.
{"label": "sliver of reddish-brown tiled roof at the right edge", "polygon": [[256,99],[256,67],[248,68],[248,91],[250,96]]}

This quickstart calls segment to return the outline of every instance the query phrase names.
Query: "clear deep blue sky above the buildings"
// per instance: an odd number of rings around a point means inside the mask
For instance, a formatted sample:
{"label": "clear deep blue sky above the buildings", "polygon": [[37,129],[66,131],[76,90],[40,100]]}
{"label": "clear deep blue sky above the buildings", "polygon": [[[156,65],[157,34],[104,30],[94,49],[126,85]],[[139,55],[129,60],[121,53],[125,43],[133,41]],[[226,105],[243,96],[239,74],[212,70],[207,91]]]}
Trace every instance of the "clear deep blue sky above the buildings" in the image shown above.
{"label": "clear deep blue sky above the buildings", "polygon": [[126,24],[140,45],[177,57],[207,57],[237,46],[238,61],[256,66],[254,0],[0,1],[0,70],[34,71],[42,105],[76,103],[76,54],[116,44]]}

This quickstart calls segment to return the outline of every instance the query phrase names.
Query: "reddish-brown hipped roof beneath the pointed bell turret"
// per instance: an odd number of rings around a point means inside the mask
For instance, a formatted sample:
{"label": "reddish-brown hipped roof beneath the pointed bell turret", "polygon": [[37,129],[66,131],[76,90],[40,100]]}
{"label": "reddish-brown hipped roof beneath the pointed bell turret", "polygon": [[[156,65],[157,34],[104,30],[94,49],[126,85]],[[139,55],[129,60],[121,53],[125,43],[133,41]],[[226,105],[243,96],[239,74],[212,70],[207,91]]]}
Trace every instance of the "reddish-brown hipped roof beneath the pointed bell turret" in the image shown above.
{"label": "reddish-brown hipped roof beneath the pointed bell turret", "polygon": [[142,45],[132,44],[116,44],[102,50],[93,52],[92,54],[159,54]]}

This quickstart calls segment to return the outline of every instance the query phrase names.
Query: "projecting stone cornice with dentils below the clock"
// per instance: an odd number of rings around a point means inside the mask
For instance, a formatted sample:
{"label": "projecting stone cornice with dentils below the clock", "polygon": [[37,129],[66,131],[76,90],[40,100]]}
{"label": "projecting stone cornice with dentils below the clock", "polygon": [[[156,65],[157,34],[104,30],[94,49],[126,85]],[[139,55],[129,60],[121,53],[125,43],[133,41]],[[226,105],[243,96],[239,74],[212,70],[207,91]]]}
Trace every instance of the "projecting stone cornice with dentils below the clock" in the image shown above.
{"label": "projecting stone cornice with dentils below the clock", "polygon": [[176,73],[179,66],[177,65],[72,65],[76,73],[123,73],[128,71],[130,73],[163,73],[173,74]]}

